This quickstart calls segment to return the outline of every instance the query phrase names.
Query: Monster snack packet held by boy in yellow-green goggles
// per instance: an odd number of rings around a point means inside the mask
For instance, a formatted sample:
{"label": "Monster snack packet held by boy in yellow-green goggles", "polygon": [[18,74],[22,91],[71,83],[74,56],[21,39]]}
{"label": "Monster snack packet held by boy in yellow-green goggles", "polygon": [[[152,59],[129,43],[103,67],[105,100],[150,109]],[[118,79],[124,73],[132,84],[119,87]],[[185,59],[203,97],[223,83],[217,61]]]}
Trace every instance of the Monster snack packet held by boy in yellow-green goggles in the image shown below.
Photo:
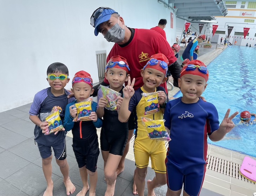
{"label": "Monster snack packet held by boy in yellow-green goggles", "polygon": [[60,106],[54,106],[51,114],[45,118],[45,120],[49,124],[49,127],[45,135],[49,135],[53,132],[60,131],[63,129],[63,124],[60,119],[61,111],[62,111],[62,108]]}

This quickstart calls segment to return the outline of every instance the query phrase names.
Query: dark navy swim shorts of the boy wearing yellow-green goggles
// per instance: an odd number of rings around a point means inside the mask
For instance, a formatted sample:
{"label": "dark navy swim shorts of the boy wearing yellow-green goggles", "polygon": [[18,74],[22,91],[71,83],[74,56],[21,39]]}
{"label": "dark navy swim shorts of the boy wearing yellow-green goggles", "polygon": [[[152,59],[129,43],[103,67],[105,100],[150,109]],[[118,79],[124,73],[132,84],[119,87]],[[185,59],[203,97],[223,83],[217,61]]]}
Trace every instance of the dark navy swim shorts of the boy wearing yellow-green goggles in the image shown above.
{"label": "dark navy swim shorts of the boy wearing yellow-green goggles", "polygon": [[66,150],[66,139],[59,141],[57,144],[51,146],[45,146],[43,144],[37,143],[40,155],[42,159],[46,159],[52,155],[52,148],[54,151],[54,156],[58,160],[64,160],[67,157]]}

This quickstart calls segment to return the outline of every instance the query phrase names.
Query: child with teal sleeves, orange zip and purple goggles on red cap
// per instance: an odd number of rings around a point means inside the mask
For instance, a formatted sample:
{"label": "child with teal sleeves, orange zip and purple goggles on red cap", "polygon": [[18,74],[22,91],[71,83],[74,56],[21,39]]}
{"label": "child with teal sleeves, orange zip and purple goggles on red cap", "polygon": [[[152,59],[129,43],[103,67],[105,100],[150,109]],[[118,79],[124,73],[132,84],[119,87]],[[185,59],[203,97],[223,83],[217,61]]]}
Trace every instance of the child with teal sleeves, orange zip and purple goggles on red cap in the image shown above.
{"label": "child with teal sleeves, orange zip and purple goggles on red cap", "polygon": [[84,196],[89,190],[88,174],[90,178],[89,196],[95,196],[96,184],[98,180],[97,161],[99,156],[99,143],[96,127],[102,126],[102,120],[97,117],[97,103],[92,102],[92,112],[90,121],[73,122],[77,115],[75,103],[83,102],[89,98],[94,89],[92,88],[92,78],[86,71],[79,71],[72,80],[72,91],[75,101],[66,106],[64,128],[66,131],[72,129],[73,134],[73,151],[75,153],[81,179],[83,181],[83,189],[78,193]]}

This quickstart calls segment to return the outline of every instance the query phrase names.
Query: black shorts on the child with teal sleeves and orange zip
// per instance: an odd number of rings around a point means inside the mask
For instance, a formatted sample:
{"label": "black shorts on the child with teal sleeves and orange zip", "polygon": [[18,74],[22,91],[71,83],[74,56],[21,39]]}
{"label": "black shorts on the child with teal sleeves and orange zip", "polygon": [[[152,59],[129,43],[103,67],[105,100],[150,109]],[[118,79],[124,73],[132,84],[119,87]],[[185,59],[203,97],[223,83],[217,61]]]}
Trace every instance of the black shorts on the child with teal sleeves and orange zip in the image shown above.
{"label": "black shorts on the child with teal sleeves and orange zip", "polygon": [[75,153],[78,167],[84,167],[91,172],[96,172],[97,161],[99,156],[98,137],[93,140],[73,139],[73,151]]}

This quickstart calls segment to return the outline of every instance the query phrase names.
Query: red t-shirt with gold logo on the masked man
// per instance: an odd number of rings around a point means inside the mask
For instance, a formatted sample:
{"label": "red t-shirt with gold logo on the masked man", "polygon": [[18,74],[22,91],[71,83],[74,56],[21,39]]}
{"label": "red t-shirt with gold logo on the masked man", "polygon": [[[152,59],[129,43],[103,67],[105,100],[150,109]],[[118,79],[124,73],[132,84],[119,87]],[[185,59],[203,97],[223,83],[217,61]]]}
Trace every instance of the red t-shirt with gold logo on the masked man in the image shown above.
{"label": "red t-shirt with gold logo on the masked man", "polygon": [[[114,44],[107,56],[107,62],[112,56],[116,55],[126,58],[130,67],[129,74],[131,79],[135,78],[133,88],[137,90],[139,87],[143,86],[140,70],[146,65],[150,57],[157,53],[164,54],[169,60],[169,65],[177,61],[170,44],[162,35],[149,29],[135,29],[134,37],[127,46],[120,47],[117,43]],[[106,78],[104,78],[104,82],[109,84]],[[166,82],[160,86],[163,86],[166,92],[168,92]]]}

